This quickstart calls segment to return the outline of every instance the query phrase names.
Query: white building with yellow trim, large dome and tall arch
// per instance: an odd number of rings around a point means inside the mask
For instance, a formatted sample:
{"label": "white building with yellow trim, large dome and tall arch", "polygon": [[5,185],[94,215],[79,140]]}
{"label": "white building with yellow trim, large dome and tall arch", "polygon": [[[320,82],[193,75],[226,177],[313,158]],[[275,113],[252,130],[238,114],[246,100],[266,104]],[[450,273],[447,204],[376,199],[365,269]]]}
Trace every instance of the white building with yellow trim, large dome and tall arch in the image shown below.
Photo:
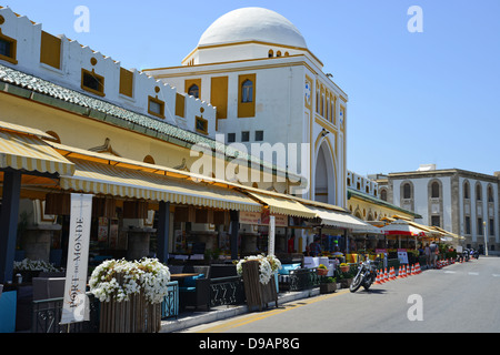
{"label": "white building with yellow trim, large dome and tall arch", "polygon": [[242,8],[217,19],[180,67],[144,72],[216,106],[219,140],[302,176],[296,191],[241,183],[347,207],[348,95],[322,68],[292,22]]}

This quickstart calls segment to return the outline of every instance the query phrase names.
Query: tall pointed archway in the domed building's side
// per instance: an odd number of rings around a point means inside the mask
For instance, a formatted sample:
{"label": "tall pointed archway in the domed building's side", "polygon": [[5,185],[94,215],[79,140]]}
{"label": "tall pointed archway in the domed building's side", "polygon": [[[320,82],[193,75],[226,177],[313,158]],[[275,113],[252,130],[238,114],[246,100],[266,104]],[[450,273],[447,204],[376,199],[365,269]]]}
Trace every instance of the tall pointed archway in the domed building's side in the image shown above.
{"label": "tall pointed archway in the domed building's side", "polygon": [[328,141],[321,143],[316,159],[314,200],[337,204],[337,181],[333,158]]}

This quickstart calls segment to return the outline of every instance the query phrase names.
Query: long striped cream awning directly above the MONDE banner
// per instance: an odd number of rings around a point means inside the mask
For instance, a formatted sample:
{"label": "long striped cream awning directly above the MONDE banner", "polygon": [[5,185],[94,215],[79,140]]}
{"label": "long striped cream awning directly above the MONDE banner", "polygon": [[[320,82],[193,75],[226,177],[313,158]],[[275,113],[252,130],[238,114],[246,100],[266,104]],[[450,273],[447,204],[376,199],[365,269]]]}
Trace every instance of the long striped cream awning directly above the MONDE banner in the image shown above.
{"label": "long striped cream awning directly above the MONDE banner", "polygon": [[261,204],[231,189],[80,159],[70,160],[76,164],[76,171],[72,176],[61,176],[63,190],[221,210],[262,211]]}

